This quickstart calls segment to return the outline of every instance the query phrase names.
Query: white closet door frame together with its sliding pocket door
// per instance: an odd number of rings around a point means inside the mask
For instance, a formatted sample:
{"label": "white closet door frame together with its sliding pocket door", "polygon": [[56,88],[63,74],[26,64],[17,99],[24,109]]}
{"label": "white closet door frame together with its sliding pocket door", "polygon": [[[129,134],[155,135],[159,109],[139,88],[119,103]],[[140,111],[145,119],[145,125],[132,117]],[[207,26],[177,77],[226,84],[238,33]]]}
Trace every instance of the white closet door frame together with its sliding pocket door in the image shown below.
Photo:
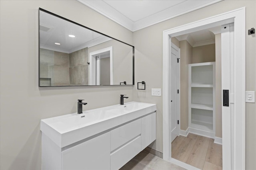
{"label": "white closet door frame together with its sliding pocket door", "polygon": [[[230,33],[229,23],[234,22],[234,35]],[[225,25],[228,24],[228,25]],[[229,90],[229,107],[222,105],[222,157],[223,169],[245,168],[245,8],[220,14],[186,24],[163,34],[163,158],[173,163],[191,168],[188,164],[172,158],[170,137],[170,51],[172,38],[209,29],[219,25],[222,27],[222,90]],[[228,28],[228,29],[226,29]],[[224,29],[228,30],[225,31]],[[230,47],[234,47],[233,49]],[[235,78],[234,78],[235,77]],[[207,90],[206,90],[207,91]],[[208,90],[209,91],[209,90]],[[234,97],[236,96],[236,97]],[[233,115],[233,117],[231,117]],[[239,121],[238,121],[239,119]],[[224,124],[225,123],[225,124]],[[230,133],[231,132],[231,133]],[[234,135],[236,134],[236,135]],[[239,145],[238,145],[239,144]],[[231,146],[231,147],[230,147]]]}

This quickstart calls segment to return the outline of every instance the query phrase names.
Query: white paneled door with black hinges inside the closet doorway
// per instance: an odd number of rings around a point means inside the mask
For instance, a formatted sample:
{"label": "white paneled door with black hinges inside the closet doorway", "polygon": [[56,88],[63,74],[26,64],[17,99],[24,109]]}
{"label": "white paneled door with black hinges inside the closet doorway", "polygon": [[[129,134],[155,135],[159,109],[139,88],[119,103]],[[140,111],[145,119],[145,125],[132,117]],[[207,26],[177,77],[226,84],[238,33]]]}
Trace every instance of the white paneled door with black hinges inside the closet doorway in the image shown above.
{"label": "white paneled door with black hinges inside the closet doorway", "polygon": [[171,50],[171,61],[170,63],[170,110],[169,110],[169,132],[171,132],[171,142],[179,135],[178,128],[178,111],[179,111],[179,97],[178,97],[178,84],[179,84],[179,69],[178,69],[178,59],[179,59],[179,48],[172,44]]}

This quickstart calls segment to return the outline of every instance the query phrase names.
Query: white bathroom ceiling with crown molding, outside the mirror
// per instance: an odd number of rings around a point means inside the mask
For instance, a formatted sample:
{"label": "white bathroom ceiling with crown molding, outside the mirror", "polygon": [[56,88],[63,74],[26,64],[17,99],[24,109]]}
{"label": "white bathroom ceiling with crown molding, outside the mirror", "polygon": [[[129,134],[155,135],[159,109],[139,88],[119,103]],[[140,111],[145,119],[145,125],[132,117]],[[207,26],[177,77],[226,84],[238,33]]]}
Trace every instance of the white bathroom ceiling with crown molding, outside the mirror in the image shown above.
{"label": "white bathroom ceiling with crown molding, outside the mirror", "polygon": [[198,10],[222,0],[77,0],[130,31]]}

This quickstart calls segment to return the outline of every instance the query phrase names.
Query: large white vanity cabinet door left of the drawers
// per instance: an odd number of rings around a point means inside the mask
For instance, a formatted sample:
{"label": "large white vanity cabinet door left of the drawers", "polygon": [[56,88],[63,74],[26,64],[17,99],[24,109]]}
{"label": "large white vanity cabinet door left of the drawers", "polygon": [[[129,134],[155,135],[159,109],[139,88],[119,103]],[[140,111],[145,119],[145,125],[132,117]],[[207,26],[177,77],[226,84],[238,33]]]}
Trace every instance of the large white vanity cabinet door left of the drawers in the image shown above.
{"label": "large white vanity cabinet door left of the drawers", "polygon": [[64,150],[62,170],[110,170],[110,132]]}

